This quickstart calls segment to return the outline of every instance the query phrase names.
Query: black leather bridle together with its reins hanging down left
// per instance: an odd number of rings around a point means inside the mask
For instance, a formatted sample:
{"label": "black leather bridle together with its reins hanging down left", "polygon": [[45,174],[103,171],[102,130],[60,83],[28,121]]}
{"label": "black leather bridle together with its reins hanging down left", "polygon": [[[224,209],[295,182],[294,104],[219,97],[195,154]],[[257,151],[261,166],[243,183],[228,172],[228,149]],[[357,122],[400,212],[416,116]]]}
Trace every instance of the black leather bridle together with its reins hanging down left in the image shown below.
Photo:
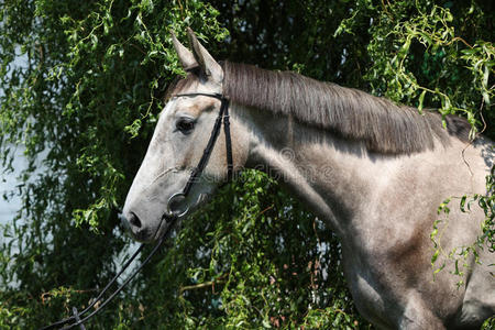
{"label": "black leather bridle together with its reins hanging down left", "polygon": [[[106,300],[103,300],[100,306],[95,309],[94,311],[89,312],[89,310],[101,300],[105,293],[110,288],[110,286],[117,282],[117,279],[122,275],[122,273],[131,265],[132,261],[143,251],[143,248],[145,244],[141,244],[141,246],[134,252],[134,254],[122,265],[122,270],[113,276],[113,278],[105,286],[105,288],[100,292],[100,294],[92,300],[92,302],[86,307],[82,311],[78,311],[76,307],[73,307],[73,316],[62,319],[55,323],[52,323],[50,326],[43,327],[40,330],[48,330],[48,329],[57,329],[61,328],[67,323],[67,324],[61,329],[73,329],[74,327],[80,327],[80,329],[85,330],[84,323],[88,321],[90,318],[92,318],[95,315],[97,315],[101,309],[103,309],[130,282],[132,278],[138,275],[138,273],[146,265],[146,263],[151,260],[151,257],[158,251],[160,246],[162,246],[163,242],[167,238],[170,229],[174,227],[174,223],[176,220],[187,213],[189,210],[189,207],[187,207],[184,211],[179,212],[173,212],[172,210],[172,204],[175,199],[183,198],[186,199],[186,197],[189,195],[190,189],[193,188],[193,185],[198,182],[199,177],[201,176],[202,172],[205,170],[205,167],[208,165],[208,161],[210,158],[211,152],[213,151],[215,144],[217,142],[217,138],[220,134],[220,127],[223,123],[223,132],[226,134],[226,147],[227,147],[227,179],[230,182],[232,179],[233,174],[233,162],[232,162],[232,141],[230,135],[230,121],[229,121],[229,99],[224,98],[221,94],[204,94],[204,92],[193,92],[193,94],[178,94],[175,95],[175,98],[178,97],[196,97],[196,96],[206,96],[216,98],[221,101],[220,106],[220,112],[217,117],[217,120],[215,121],[213,130],[211,131],[210,139],[208,140],[208,144],[205,147],[202,152],[202,156],[199,160],[198,166],[196,166],[193,169],[193,173],[190,174],[189,179],[187,180],[186,186],[184,187],[183,191],[176,193],[170,196],[167,202],[167,213],[170,216],[162,217],[162,221],[166,218],[166,222],[168,223],[167,230],[165,233],[161,237],[160,241],[156,243],[155,248],[153,248],[152,252],[146,256],[146,258],[143,261],[143,263],[135,270]],[[162,223],[160,223],[158,229],[161,228]],[[89,312],[89,314],[88,314]],[[85,316],[87,315],[87,316]]]}

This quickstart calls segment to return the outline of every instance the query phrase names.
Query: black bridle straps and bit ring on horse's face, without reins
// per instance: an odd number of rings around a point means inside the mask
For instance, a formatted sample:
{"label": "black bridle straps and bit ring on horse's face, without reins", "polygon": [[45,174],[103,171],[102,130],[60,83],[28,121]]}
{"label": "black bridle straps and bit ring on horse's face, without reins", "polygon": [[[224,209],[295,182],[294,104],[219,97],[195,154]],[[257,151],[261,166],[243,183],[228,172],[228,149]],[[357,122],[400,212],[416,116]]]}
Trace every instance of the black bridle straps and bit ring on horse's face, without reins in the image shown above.
{"label": "black bridle straps and bit ring on horse's face, without reins", "polygon": [[199,160],[198,166],[196,166],[193,169],[193,173],[190,174],[189,179],[187,180],[186,186],[184,187],[183,191],[175,193],[170,196],[167,202],[167,213],[173,215],[174,217],[180,218],[184,217],[187,211],[189,210],[189,207],[187,207],[185,210],[177,212],[173,212],[172,210],[172,204],[178,199],[186,199],[186,197],[189,195],[190,189],[195,183],[198,182],[199,177],[201,176],[202,172],[205,170],[205,167],[208,165],[208,161],[210,158],[211,152],[213,151],[215,143],[217,142],[217,138],[220,134],[220,127],[223,122],[223,132],[226,134],[226,148],[227,148],[227,179],[230,180],[232,178],[233,173],[233,164],[232,164],[232,141],[230,138],[230,121],[229,121],[229,99],[223,97],[221,94],[206,94],[206,92],[191,92],[191,94],[178,94],[175,95],[174,98],[178,97],[197,97],[197,96],[205,96],[210,98],[216,98],[221,101],[220,105],[220,112],[218,113],[217,120],[215,121],[213,130],[211,131],[210,140],[208,140],[208,144],[205,147],[205,151],[202,152],[202,156]]}

